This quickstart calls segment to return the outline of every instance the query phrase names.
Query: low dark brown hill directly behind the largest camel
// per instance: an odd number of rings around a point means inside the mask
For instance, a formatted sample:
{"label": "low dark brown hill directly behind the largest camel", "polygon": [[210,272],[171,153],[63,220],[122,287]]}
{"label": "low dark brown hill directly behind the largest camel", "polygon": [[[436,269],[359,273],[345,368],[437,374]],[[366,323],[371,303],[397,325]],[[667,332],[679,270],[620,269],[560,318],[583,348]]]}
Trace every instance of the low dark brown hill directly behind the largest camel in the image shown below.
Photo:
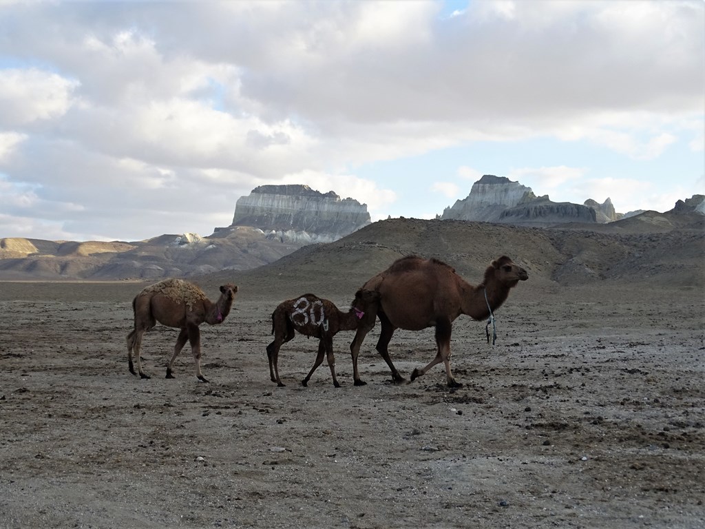
{"label": "low dark brown hill directly behind the largest camel", "polygon": [[[658,221],[656,221],[658,219]],[[596,228],[596,229],[592,229]],[[235,281],[242,294],[282,299],[303,291],[352,293],[408,254],[436,257],[469,281],[491,260],[508,255],[529,271],[531,288],[657,283],[705,288],[705,217],[646,212],[611,224],[540,229],[471,221],[389,219],[329,244],[308,245],[255,270],[200,278]],[[321,294],[322,295],[322,294]],[[608,304],[610,291],[605,291]]]}

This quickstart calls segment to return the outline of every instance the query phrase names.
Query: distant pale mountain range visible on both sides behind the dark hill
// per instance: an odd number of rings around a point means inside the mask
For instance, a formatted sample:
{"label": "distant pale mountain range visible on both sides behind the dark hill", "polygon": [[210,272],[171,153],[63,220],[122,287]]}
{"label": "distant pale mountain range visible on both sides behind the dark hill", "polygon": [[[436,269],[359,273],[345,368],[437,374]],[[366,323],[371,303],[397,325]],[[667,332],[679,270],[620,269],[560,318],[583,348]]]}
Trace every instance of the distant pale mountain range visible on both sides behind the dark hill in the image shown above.
{"label": "distant pale mountain range visible on both sides behind the dark hill", "polygon": [[[437,219],[600,233],[702,230],[705,196],[679,200],[664,214],[619,218],[611,200],[584,205],[551,202],[508,178],[486,175],[470,195]],[[468,218],[470,217],[470,218]],[[235,205],[233,224],[210,236],[164,234],[145,241],[0,239],[0,280],[160,279],[253,269],[312,243],[331,243],[370,224],[367,205],[309,186],[259,186]],[[377,223],[375,223],[377,224]],[[442,223],[441,223],[442,224]]]}

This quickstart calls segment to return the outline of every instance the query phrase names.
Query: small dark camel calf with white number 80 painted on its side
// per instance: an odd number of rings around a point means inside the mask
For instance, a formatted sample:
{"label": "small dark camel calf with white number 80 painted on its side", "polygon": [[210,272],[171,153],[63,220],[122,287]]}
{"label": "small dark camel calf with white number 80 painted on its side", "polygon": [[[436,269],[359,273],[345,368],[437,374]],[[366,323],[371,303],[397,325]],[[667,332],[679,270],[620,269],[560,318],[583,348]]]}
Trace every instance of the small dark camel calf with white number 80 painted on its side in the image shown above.
{"label": "small dark camel calf with white number 80 painted on its side", "polygon": [[295,330],[304,336],[314,336],[319,339],[316,361],[306,378],[301,381],[307,386],[311,375],[323,363],[323,357],[328,358],[328,365],[333,376],[333,386],[341,387],[336,378],[336,359],[333,355],[333,336],[339,331],[353,331],[361,324],[374,326],[367,322],[367,307],[379,300],[379,294],[374,291],[359,290],[355,293],[350,310],[341,312],[333,302],[321,299],[314,294],[304,294],[298,298],[283,301],[271,315],[271,333],[274,341],[266,346],[269,358],[269,378],[278,386],[284,386],[279,378],[278,360],[279,348],[283,343],[293,339]]}

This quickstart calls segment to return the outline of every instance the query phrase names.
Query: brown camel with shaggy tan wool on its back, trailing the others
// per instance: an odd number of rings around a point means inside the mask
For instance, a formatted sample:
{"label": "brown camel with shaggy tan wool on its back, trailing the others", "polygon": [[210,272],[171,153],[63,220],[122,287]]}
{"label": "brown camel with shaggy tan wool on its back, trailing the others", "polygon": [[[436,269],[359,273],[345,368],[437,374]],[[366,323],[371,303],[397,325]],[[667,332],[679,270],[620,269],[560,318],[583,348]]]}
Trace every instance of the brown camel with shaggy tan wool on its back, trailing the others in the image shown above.
{"label": "brown camel with shaggy tan wool on its back, trailing the others", "polygon": [[196,363],[196,376],[203,382],[208,382],[201,372],[201,339],[198,326],[203,322],[210,325],[222,323],[230,313],[238,287],[226,284],[221,286],[220,291],[220,298],[213,303],[195,284],[183,281],[183,279],[164,279],[164,281],[147,286],[137,294],[133,299],[135,329],[128,334],[130,373],[137,375],[135,367],[133,367],[134,350],[140,378],[149,378],[142,371],[140,346],[145,332],[154,328],[159,322],[166,327],[181,329],[171,360],[166,366],[166,378],[173,378],[171,367],[173,367],[178,353],[188,341],[191,344],[193,360]]}

